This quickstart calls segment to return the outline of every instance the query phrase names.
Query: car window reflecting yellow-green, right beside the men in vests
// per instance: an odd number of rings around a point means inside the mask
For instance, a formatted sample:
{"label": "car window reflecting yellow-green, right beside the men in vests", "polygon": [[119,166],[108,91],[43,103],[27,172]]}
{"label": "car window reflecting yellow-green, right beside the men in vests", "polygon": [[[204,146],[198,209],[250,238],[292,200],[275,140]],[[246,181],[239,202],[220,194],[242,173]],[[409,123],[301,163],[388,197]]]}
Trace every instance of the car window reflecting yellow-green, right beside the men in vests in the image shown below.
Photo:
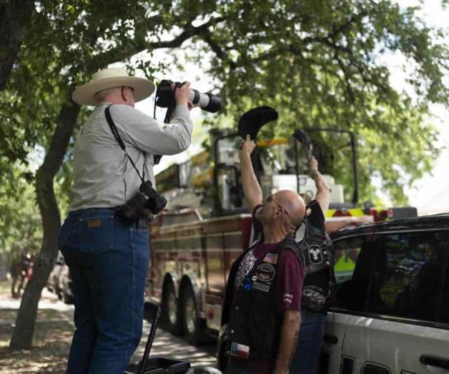
{"label": "car window reflecting yellow-green, right beside the men in vests", "polygon": [[364,310],[372,264],[375,241],[372,235],[360,235],[336,240],[335,292],[331,306],[347,310]]}

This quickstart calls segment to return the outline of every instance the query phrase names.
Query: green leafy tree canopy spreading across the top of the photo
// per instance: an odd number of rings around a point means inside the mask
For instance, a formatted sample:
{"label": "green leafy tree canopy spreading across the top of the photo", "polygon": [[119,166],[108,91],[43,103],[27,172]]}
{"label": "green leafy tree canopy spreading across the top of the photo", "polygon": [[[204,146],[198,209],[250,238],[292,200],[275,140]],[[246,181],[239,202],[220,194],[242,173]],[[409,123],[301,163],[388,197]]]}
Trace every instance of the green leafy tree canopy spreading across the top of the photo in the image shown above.
{"label": "green leafy tree canopy spreading across the top of the photo", "polygon": [[[185,54],[219,82],[225,111],[221,119],[205,118],[205,125],[233,126],[248,108],[270,105],[280,120],[265,136],[290,135],[298,127],[354,131],[360,200],[375,198],[375,177],[396,203],[406,203],[403,186],[430,171],[438,156],[438,134],[427,114],[429,103],[448,103],[448,48],[443,31],[429,29],[416,9],[393,1],[114,0],[104,6],[45,0],[36,3],[33,17],[0,92],[0,178],[14,173],[14,183],[24,183],[24,172],[32,181],[29,153],[38,150],[41,161],[74,86],[120,61],[152,76],[167,68],[167,61],[154,61],[152,52],[160,48]],[[142,51],[149,54],[132,57]],[[390,84],[380,56],[393,54],[413,67],[408,91]],[[84,108],[79,126],[88,114]],[[347,138],[313,138],[322,167],[350,195],[349,148],[335,150]],[[70,184],[71,146],[56,176],[63,211]]]}

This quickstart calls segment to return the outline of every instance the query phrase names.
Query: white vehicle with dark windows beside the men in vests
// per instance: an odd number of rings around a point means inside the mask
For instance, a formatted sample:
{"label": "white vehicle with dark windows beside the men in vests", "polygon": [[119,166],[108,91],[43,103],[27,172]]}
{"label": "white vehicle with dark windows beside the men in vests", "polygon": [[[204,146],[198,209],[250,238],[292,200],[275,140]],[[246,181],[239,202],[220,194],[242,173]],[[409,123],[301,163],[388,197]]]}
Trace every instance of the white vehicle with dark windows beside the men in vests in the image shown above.
{"label": "white vehicle with dark windows beside the men in vests", "polygon": [[449,373],[449,214],[333,238],[320,374]]}

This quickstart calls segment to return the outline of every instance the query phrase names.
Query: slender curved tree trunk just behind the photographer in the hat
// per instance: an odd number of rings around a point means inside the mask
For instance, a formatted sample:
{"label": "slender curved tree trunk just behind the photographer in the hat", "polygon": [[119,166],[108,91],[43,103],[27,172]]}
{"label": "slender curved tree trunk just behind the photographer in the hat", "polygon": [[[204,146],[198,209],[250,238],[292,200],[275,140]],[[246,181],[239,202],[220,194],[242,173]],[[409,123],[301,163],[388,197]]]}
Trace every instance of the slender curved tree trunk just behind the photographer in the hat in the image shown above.
{"label": "slender curved tree trunk just behind the photographer in the hat", "polygon": [[79,105],[73,101],[65,103],[59,112],[56,131],[51,139],[44,163],[36,173],[36,196],[42,217],[44,238],[39,257],[34,263],[33,276],[26,285],[21,300],[16,325],[11,337],[11,350],[31,347],[36,322],[37,306],[42,288],[46,285],[54,260],[58,253],[58,237],[61,216],[54,195],[54,176],[61,167],[69,139],[77,121]]}

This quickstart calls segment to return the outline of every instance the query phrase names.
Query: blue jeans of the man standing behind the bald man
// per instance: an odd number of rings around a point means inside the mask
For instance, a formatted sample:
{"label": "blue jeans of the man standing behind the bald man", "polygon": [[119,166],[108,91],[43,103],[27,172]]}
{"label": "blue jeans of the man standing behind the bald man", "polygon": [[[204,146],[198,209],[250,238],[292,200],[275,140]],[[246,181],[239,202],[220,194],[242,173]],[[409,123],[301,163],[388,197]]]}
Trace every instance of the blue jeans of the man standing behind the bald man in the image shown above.
{"label": "blue jeans of the man standing behind the bald man", "polygon": [[301,327],[290,374],[316,374],[322,338],[325,334],[325,313],[301,309]]}

